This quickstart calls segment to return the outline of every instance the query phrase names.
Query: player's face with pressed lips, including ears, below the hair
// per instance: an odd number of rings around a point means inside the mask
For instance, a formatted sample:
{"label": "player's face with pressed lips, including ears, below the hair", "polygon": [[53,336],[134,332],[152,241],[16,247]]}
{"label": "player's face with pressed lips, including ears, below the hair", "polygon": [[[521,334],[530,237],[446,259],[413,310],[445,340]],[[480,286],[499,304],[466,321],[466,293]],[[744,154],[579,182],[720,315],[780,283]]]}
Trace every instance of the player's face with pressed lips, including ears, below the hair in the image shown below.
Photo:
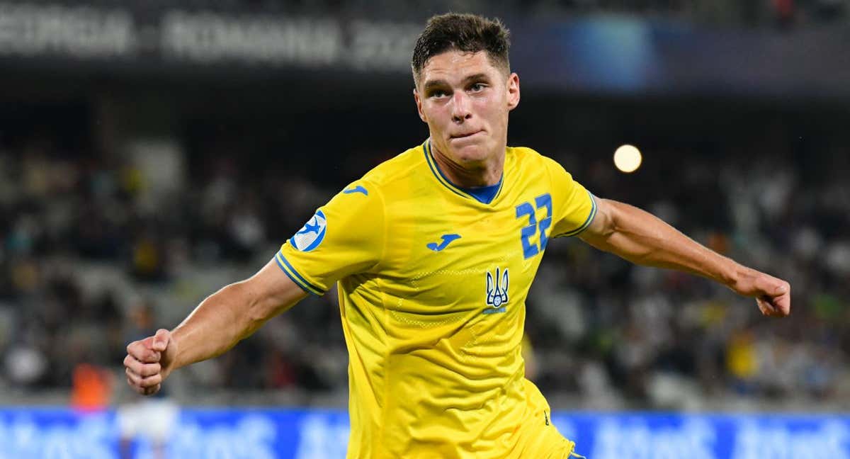
{"label": "player's face with pressed lips, including ears, below the hair", "polygon": [[507,113],[519,104],[519,77],[505,75],[486,52],[433,56],[413,95],[433,147],[450,161],[477,168],[504,154]]}

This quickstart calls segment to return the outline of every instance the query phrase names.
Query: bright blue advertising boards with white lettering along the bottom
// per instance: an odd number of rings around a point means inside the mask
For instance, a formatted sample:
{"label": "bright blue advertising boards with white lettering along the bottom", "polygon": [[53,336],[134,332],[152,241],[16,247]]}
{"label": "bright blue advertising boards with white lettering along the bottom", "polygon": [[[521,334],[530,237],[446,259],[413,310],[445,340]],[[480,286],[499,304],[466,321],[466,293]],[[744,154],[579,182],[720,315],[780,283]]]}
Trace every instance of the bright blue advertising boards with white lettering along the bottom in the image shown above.
{"label": "bright blue advertising boards with white lettering along the bottom", "polygon": [[[172,424],[144,417],[122,441],[124,413],[0,410],[0,459],[342,459],[345,411],[184,409]],[[561,433],[591,459],[850,459],[850,416],[555,413]],[[167,429],[161,429],[167,425]],[[152,432],[152,433],[151,433]],[[123,452],[122,452],[123,451]]]}

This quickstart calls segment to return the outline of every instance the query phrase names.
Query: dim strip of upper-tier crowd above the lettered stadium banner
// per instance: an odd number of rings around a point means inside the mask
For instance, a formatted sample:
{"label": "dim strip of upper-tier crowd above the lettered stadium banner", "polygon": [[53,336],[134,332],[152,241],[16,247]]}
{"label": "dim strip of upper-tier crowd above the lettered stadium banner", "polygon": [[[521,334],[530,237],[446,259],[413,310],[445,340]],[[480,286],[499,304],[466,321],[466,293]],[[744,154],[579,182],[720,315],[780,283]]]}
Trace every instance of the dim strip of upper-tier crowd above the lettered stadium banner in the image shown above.
{"label": "dim strip of upper-tier crowd above the lettered stadium banner", "polygon": [[[109,7],[123,0],[89,0]],[[173,0],[145,3],[145,8],[174,8]],[[685,20],[714,26],[797,28],[846,23],[844,0],[184,0],[188,10],[240,11],[243,14],[343,15],[409,19],[442,11],[490,11],[502,17],[517,15],[566,19],[586,14],[628,14],[659,20]]]}

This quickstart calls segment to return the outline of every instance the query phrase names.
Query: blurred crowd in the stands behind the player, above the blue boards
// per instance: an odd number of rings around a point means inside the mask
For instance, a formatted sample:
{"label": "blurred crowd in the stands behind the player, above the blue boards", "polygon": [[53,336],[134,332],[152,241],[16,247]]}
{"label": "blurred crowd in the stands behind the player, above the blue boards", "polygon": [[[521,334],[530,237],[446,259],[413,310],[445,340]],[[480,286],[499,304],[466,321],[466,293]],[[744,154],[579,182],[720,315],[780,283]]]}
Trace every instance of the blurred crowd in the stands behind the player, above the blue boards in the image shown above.
{"label": "blurred crowd in the stands behind the player, above the blue boards", "polygon": [[[795,150],[767,139],[712,155],[655,151],[666,160],[628,180],[606,152],[546,150],[594,193],[655,212],[794,289],[791,318],[765,320],[750,300],[707,280],[553,241],[528,299],[525,353],[553,405],[687,409],[730,397],[824,405],[847,397],[850,160],[830,145]],[[337,174],[356,178],[390,153],[359,155]],[[250,275],[348,183],[259,164],[212,149],[176,189],[156,195],[129,158],[43,133],[0,142],[0,393],[66,390],[80,365],[122,382],[129,341],[176,325],[204,295]],[[330,292],[178,372],[170,394],[192,403],[220,393],[343,405],[346,366]]]}

